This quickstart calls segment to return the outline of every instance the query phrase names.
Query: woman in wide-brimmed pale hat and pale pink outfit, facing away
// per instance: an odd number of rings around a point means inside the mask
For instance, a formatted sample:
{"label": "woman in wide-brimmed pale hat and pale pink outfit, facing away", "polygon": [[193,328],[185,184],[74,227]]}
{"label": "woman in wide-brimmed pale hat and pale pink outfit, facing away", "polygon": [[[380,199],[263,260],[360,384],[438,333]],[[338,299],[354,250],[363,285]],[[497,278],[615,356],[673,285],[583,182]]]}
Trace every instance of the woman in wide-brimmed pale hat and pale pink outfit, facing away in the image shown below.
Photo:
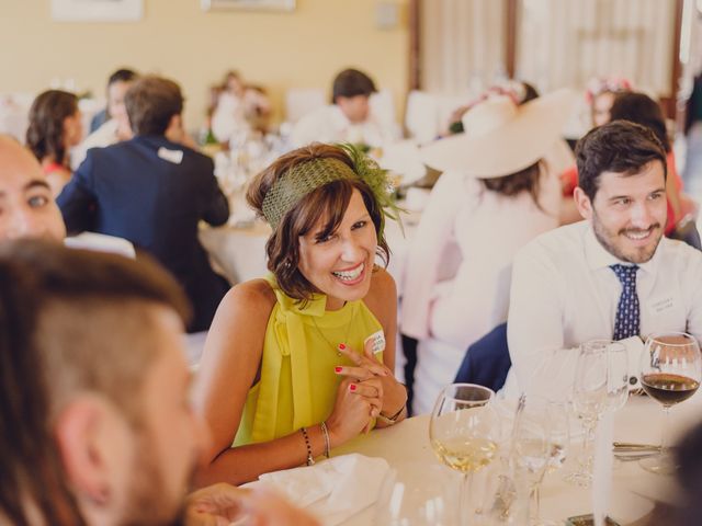
{"label": "woman in wide-brimmed pale hat and pale pink outfit, facing away", "polygon": [[545,156],[573,107],[567,91],[522,105],[489,95],[463,134],[423,148],[444,171],[407,254],[400,331],[419,340],[414,410],[428,412],[466,348],[507,320],[512,258],[558,226],[559,184]]}

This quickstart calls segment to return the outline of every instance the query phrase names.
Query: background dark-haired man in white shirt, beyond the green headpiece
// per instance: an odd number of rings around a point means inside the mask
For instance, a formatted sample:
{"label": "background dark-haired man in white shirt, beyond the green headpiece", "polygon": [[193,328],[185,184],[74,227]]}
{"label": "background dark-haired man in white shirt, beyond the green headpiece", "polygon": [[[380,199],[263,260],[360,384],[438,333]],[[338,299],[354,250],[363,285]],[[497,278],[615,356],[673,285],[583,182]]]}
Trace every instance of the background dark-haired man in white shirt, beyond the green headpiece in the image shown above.
{"label": "background dark-haired man in white shirt, beyond the green headpiece", "polygon": [[302,117],[293,127],[295,146],[351,142],[377,148],[395,139],[394,130],[372,112],[369,100],[375,89],[371,78],[358,69],[344,69],[333,79],[331,104]]}

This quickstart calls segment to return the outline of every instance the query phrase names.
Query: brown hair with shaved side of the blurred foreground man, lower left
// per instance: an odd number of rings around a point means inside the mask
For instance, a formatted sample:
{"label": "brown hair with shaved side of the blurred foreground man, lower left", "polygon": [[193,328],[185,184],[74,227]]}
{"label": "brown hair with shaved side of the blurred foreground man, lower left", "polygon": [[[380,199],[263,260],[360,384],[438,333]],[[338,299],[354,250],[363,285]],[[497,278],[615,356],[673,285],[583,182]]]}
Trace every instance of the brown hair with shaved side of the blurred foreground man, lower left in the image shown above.
{"label": "brown hair with shaved side of the blurred foreground man, lower left", "polygon": [[141,412],[154,306],[189,316],[156,263],[36,240],[2,247],[0,523],[86,524],[52,422],[78,392],[102,393],[127,419]]}

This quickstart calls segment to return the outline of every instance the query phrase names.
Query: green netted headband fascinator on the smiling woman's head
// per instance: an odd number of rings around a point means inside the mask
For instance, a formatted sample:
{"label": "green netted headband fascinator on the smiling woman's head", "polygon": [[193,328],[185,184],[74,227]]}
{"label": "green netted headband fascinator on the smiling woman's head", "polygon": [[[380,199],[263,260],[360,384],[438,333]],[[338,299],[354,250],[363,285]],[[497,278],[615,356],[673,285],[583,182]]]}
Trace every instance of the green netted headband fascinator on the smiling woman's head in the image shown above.
{"label": "green netted headband fascinator on the smiling woman's head", "polygon": [[396,221],[400,220],[399,213],[401,210],[392,196],[393,186],[388,180],[387,170],[378,167],[377,162],[354,145],[344,142],[336,146],[349,156],[353,169],[338,159],[316,158],[293,167],[273,183],[265,194],[261,207],[263,217],[273,230],[307,194],[320,186],[343,179],[361,180],[369,185],[381,209],[381,235],[385,229],[386,217]]}

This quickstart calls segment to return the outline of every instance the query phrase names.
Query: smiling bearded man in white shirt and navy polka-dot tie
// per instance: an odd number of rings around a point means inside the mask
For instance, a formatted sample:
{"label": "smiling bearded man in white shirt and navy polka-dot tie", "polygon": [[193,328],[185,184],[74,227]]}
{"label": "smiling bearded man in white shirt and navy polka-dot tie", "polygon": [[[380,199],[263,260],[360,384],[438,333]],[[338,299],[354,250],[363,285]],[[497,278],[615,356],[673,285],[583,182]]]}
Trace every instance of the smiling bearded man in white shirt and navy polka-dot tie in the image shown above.
{"label": "smiling bearded man in white shirt and navy polka-dot tie", "polygon": [[[626,121],[595,128],[576,149],[574,197],[585,221],[540,236],[517,255],[505,392],[525,389],[557,359],[553,389],[573,382],[577,346],[658,331],[702,336],[702,253],[663,237],[666,153],[652,132]],[[631,382],[638,355],[630,352]]]}

